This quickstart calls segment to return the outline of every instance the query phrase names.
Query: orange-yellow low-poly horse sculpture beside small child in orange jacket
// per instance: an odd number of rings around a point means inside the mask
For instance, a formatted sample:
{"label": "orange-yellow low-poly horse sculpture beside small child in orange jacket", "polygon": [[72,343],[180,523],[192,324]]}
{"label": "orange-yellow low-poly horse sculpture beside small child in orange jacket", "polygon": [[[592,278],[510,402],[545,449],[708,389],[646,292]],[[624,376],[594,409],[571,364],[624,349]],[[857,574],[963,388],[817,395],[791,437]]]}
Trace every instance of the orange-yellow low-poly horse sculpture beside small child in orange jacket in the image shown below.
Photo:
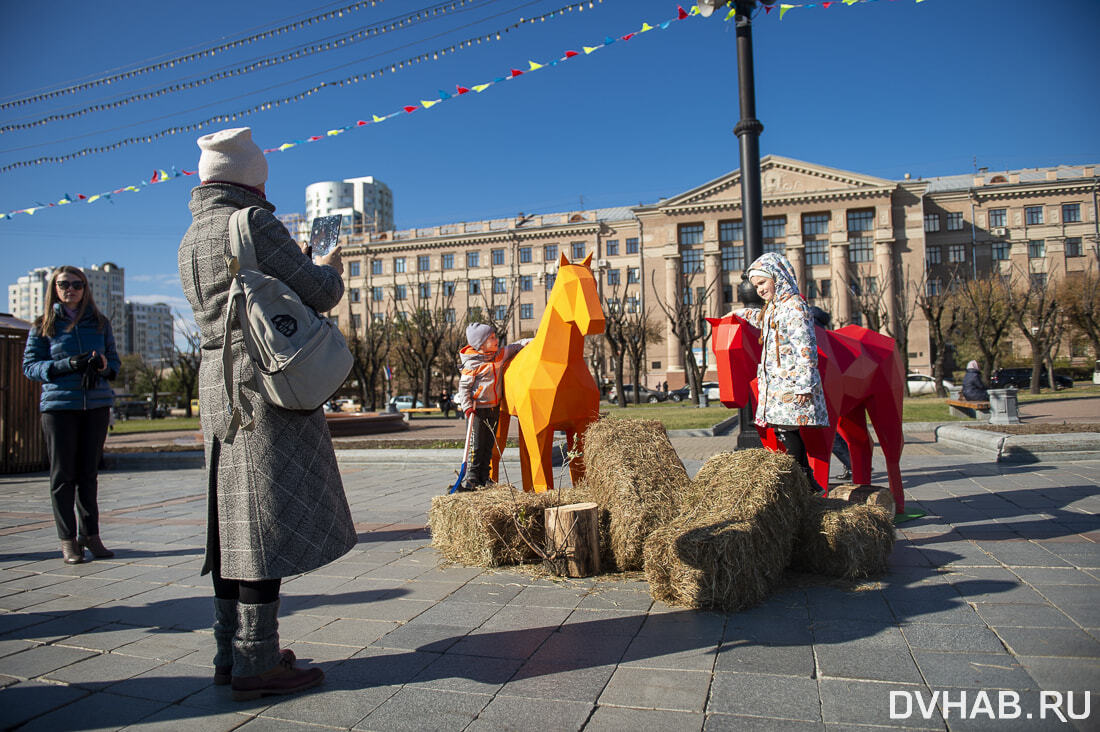
{"label": "orange-yellow low-poly horse sculpture beside small child in orange jacket", "polygon": [[[600,389],[584,362],[584,337],[604,331],[604,310],[591,262],[592,254],[580,264],[570,264],[562,254],[535,339],[505,369],[496,449],[490,468],[494,481],[508,439],[510,415],[519,420],[524,490],[536,493],[553,488],[554,431],[563,430],[566,449],[579,452],[584,430],[600,416]],[[573,458],[569,472],[575,484],[584,476],[584,462]]]}

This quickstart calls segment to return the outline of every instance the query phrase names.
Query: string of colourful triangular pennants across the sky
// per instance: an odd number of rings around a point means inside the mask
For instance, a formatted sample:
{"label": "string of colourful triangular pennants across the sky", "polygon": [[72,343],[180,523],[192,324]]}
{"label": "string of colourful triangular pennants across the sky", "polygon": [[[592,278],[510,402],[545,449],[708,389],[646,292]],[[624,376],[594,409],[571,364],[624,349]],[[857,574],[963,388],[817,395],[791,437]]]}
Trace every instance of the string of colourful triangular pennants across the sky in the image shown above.
{"label": "string of colourful triangular pennants across the sky", "polygon": [[[916,0],[916,2],[923,2],[923,1],[924,0]],[[864,3],[868,3],[868,2],[878,2],[878,0],[834,0],[832,2],[828,2],[827,4],[825,2],[821,2],[821,3],[804,3],[802,6],[792,6],[792,7],[795,7],[795,8],[809,8],[809,7],[821,4],[822,7],[824,7],[824,8],[827,9],[828,6],[833,6],[833,4],[837,4],[837,3],[844,3],[846,6],[854,6],[854,4],[864,4]],[[788,10],[790,10],[790,8],[788,8]],[[782,6],[780,7],[780,12],[782,12]],[[583,53],[579,52],[579,51],[566,51],[564,53],[564,55],[562,55],[560,58],[554,58],[552,61],[548,61],[547,63],[542,63],[542,64],[539,64],[539,63],[534,62],[534,61],[528,61],[527,62],[528,68],[526,68],[526,69],[512,68],[508,74],[506,74],[504,76],[498,76],[498,77],[496,77],[496,78],[494,78],[494,79],[492,79],[490,81],[485,81],[485,83],[482,83],[482,84],[474,84],[474,85],[470,85],[470,86],[455,85],[454,92],[447,92],[447,91],[440,90],[439,95],[438,95],[438,98],[421,99],[419,101],[419,103],[417,103],[417,105],[406,105],[406,106],[402,107],[398,110],[389,112],[388,114],[382,114],[382,116],[380,116],[380,114],[371,114],[371,119],[370,120],[361,119],[361,120],[355,121],[352,124],[346,124],[344,127],[333,128],[331,130],[328,130],[327,132],[324,132],[324,134],[315,134],[315,135],[311,135],[311,136],[308,136],[308,138],[304,138],[304,139],[300,139],[300,140],[293,140],[293,141],[289,141],[289,142],[284,142],[283,144],[277,145],[275,148],[268,148],[268,149],[264,150],[264,154],[270,155],[270,154],[274,154],[276,152],[286,152],[287,150],[292,150],[292,149],[297,148],[299,145],[305,145],[305,144],[310,144],[310,143],[314,143],[314,142],[319,142],[319,141],[326,140],[328,138],[334,138],[337,135],[343,134],[344,132],[348,132],[349,130],[355,130],[355,129],[369,127],[371,124],[380,124],[380,123],[385,122],[387,120],[394,119],[395,117],[411,114],[413,112],[419,111],[421,109],[431,109],[432,107],[435,107],[436,105],[438,105],[440,102],[451,101],[451,100],[453,100],[453,99],[455,99],[458,97],[464,97],[464,96],[466,96],[466,95],[469,95],[471,92],[473,92],[473,94],[481,94],[481,92],[486,91],[487,89],[490,89],[490,88],[492,88],[492,87],[494,87],[494,86],[496,86],[498,84],[502,84],[502,83],[505,83],[505,81],[513,81],[513,80],[519,78],[520,76],[526,76],[526,75],[528,75],[530,73],[534,73],[534,72],[537,72],[537,70],[542,70],[542,69],[546,69],[546,68],[552,68],[552,67],[558,66],[559,64],[564,63],[566,61],[570,61],[572,58],[579,58],[579,57],[588,56],[588,55],[591,55],[591,54],[593,54],[593,53],[595,53],[595,52],[597,52],[597,51],[600,51],[602,48],[606,48],[607,46],[609,46],[609,45],[612,45],[614,43],[630,41],[631,39],[634,39],[636,36],[639,36],[642,33],[648,33],[649,31],[657,31],[657,30],[661,30],[661,31],[668,30],[669,26],[672,25],[672,23],[674,23],[676,21],[685,20],[688,18],[695,17],[697,14],[698,14],[698,9],[696,7],[692,7],[691,11],[689,12],[689,11],[684,10],[683,7],[678,6],[676,7],[676,17],[675,18],[667,20],[667,21],[664,21],[662,23],[658,23],[656,25],[650,25],[649,23],[642,23],[641,28],[639,30],[634,31],[631,33],[627,33],[626,35],[622,35],[622,36],[618,36],[618,37],[612,37],[612,36],[608,35],[601,43],[595,43],[594,45],[591,45],[591,46],[587,46],[587,45],[581,46]],[[732,19],[734,17],[735,17],[735,11],[730,11],[726,15],[726,20],[729,20],[729,19]],[[59,207],[59,206],[67,206],[69,204],[75,204],[75,203],[94,204],[97,200],[111,200],[113,196],[118,196],[118,195],[125,194],[125,193],[141,193],[141,190],[144,189],[147,186],[157,185],[157,184],[161,184],[161,183],[167,183],[169,181],[175,181],[176,178],[179,178],[179,177],[191,176],[191,175],[197,175],[197,174],[198,174],[198,171],[188,171],[188,170],[184,170],[184,168],[177,168],[176,166],[172,166],[170,168],[157,168],[157,170],[155,170],[153,172],[153,175],[150,178],[147,178],[145,181],[141,181],[139,184],[124,186],[122,188],[116,188],[114,190],[110,190],[110,192],[98,193],[98,194],[95,194],[95,195],[91,195],[91,196],[86,196],[84,194],[78,194],[77,196],[74,197],[74,196],[72,196],[69,194],[65,194],[56,203],[43,204],[43,203],[35,201],[35,205],[32,206],[32,207],[30,207],[30,208],[22,208],[22,209],[19,209],[19,210],[9,211],[7,214],[0,214],[0,220],[11,219],[12,217],[14,217],[14,216],[16,216],[19,214],[26,214],[28,216],[33,216],[36,211],[40,211],[40,210],[43,210],[43,209],[55,208],[55,207]]]}

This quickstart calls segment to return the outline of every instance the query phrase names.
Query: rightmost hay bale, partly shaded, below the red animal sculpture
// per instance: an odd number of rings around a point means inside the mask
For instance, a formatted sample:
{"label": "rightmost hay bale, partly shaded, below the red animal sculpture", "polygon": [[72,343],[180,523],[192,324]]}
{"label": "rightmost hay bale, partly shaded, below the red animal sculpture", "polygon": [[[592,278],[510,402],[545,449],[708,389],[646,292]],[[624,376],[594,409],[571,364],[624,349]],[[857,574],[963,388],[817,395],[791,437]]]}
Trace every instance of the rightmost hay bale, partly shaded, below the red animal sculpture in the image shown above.
{"label": "rightmost hay bale, partly shaded, below the red animal sculpture", "polygon": [[872,577],[887,571],[893,543],[892,509],[813,498],[791,568],[846,579]]}

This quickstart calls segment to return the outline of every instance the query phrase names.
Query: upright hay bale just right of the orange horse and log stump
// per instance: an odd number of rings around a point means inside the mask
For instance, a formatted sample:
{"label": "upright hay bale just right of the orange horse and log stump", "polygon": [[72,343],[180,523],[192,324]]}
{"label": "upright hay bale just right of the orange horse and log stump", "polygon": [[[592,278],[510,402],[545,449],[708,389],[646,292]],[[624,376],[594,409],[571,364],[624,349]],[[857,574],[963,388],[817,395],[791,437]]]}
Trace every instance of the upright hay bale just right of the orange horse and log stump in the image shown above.
{"label": "upright hay bale just right of the orange horse and log stump", "polygon": [[664,425],[600,419],[584,434],[584,466],[591,500],[607,512],[607,559],[641,569],[646,537],[675,515],[690,482]]}

